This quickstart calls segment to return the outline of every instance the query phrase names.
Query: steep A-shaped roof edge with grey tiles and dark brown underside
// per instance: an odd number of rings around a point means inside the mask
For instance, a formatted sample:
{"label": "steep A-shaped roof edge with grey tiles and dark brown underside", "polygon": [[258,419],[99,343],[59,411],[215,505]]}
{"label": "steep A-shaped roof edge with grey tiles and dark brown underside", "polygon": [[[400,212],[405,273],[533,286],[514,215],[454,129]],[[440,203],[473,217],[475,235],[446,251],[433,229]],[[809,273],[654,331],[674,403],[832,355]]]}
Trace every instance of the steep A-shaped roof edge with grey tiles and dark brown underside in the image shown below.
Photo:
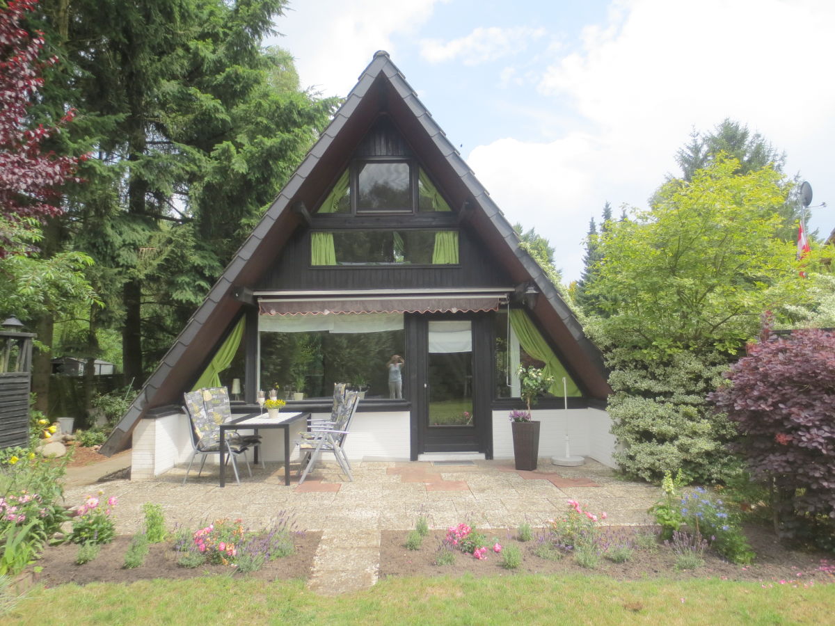
{"label": "steep A-shaped roof edge with grey tiles and dark brown underside", "polygon": [[544,295],[537,299],[532,316],[549,341],[571,363],[575,376],[590,396],[602,399],[610,392],[600,351],[586,338],[579,321],[544,271],[519,245],[512,226],[397,66],[381,51],[375,53],[331,124],[149,376],[101,452],[110,455],[127,447],[134,426],[148,411],[180,405],[182,392],[204,370],[215,347],[240,318],[245,306],[241,294],[260,279],[276,259],[276,250],[281,250],[303,223],[306,207],[318,206],[337,183],[353,150],[383,109],[429,169],[429,176],[444,190],[453,210],[465,212],[468,226],[495,252],[514,281],[532,282]]}

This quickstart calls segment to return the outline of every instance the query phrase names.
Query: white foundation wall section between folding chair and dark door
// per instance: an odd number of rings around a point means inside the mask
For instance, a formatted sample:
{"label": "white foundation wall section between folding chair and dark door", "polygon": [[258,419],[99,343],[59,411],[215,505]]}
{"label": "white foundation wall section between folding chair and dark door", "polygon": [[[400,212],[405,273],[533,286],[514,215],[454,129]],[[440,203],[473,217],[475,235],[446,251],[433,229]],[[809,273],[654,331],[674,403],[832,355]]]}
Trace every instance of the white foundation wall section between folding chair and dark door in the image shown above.
{"label": "white foundation wall section between folding chair and dark door", "polygon": [[352,461],[408,461],[411,432],[409,411],[363,413],[360,406],[351,423],[345,452]]}

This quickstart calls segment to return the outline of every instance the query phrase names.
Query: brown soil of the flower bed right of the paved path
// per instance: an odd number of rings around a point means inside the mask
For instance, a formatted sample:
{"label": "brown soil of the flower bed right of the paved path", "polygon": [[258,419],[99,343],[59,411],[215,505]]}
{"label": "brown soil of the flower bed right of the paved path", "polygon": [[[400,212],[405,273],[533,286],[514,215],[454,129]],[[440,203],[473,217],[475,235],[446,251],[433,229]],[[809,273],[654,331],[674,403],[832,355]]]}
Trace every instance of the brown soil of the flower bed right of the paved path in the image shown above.
{"label": "brown soil of the flower bed right of the paved path", "polygon": [[[624,536],[624,533],[635,533],[641,529],[620,528],[611,531]],[[648,532],[648,529],[643,529]],[[822,559],[826,554],[794,552],[783,548],[777,542],[774,534],[765,528],[748,527],[746,536],[751,547],[757,553],[757,558],[751,565],[736,565],[727,563],[713,554],[706,555],[705,565],[691,571],[677,571],[676,558],[669,548],[658,545],[653,549],[636,548],[632,558],[626,563],[611,563],[605,558],[600,559],[600,565],[595,569],[581,568],[574,563],[574,558],[566,554],[559,560],[540,558],[533,552],[537,545],[537,534],[541,530],[534,529],[534,540],[521,543],[516,538],[514,530],[485,530],[483,534],[491,540],[508,546],[519,546],[523,561],[514,570],[502,567],[501,555],[490,551],[488,558],[479,561],[470,554],[455,553],[455,563],[438,566],[435,558],[438,548],[446,536],[445,531],[432,531],[423,539],[421,548],[408,550],[406,545],[407,533],[387,531],[382,533],[380,553],[380,577],[386,576],[458,576],[465,573],[473,576],[514,576],[518,573],[547,573],[547,574],[601,574],[618,580],[637,580],[642,578],[671,578],[686,580],[691,578],[721,578],[723,580],[747,580],[768,584],[792,584],[796,586],[833,583],[835,575],[822,571]],[[835,558],[828,555],[828,562],[835,565]],[[835,568],[833,568],[835,569]]]}

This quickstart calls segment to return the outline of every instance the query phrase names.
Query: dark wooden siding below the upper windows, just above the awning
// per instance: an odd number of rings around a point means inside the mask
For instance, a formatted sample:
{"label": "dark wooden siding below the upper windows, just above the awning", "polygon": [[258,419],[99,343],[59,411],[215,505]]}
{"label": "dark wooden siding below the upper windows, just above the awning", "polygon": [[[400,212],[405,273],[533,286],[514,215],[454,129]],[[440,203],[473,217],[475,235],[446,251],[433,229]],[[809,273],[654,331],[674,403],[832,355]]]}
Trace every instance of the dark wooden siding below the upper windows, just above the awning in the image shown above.
{"label": "dark wooden siding below the upper windows, just above the awning", "polygon": [[430,289],[513,286],[506,270],[473,241],[458,235],[460,265],[311,267],[310,236],[303,229],[287,242],[256,290]]}

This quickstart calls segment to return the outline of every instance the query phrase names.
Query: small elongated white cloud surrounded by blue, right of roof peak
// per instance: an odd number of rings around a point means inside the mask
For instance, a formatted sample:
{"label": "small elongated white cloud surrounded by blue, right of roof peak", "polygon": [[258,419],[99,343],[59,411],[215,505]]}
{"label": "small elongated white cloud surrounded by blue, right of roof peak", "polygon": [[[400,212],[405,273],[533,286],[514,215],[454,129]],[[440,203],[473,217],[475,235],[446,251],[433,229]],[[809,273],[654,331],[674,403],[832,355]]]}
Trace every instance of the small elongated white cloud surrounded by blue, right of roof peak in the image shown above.
{"label": "small elongated white cloud surrounded by blue, right of roof peak", "polygon": [[466,37],[444,43],[439,39],[424,39],[421,56],[429,63],[442,63],[460,58],[464,65],[478,65],[495,61],[523,51],[530,40],[545,34],[544,28],[482,28],[473,29]]}

